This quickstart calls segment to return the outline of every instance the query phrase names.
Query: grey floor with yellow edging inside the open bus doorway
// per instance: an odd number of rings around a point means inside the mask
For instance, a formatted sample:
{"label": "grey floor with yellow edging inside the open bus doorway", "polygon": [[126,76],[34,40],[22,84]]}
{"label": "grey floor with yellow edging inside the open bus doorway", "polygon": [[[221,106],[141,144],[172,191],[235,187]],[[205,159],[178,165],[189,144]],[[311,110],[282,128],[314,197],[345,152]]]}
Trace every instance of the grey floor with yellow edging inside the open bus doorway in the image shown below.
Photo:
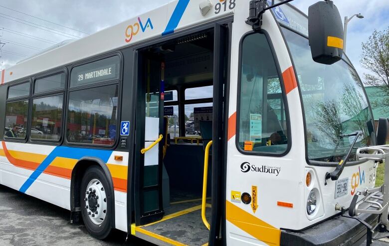
{"label": "grey floor with yellow edging inside the open bus doorway", "polygon": [[[205,217],[209,222],[210,204],[206,204]],[[180,245],[203,246],[208,243],[209,231],[201,219],[201,199],[173,202],[169,208],[165,209],[165,216],[162,220],[141,228],[176,241]]]}

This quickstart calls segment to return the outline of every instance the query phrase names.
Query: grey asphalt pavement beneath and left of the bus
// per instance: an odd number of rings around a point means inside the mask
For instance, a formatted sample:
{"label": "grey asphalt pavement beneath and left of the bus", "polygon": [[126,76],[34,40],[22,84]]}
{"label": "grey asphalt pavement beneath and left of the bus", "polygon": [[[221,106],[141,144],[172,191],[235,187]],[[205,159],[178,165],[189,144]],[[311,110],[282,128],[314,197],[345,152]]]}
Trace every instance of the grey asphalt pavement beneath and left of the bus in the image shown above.
{"label": "grey asphalt pavement beneath and left of the bus", "polygon": [[70,224],[70,212],[0,185],[0,246],[154,246],[115,231],[94,239],[85,226]]}

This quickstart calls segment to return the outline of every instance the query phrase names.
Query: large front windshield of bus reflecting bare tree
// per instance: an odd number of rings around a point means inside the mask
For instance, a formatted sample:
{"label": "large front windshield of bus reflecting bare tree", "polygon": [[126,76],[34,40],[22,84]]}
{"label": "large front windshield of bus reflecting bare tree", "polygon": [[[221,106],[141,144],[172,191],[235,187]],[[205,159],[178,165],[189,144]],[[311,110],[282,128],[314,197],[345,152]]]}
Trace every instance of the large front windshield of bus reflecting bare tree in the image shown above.
{"label": "large front windshield of bus reflecting bare tree", "polygon": [[[370,145],[373,119],[355,69],[344,60],[332,65],[314,62],[308,39],[282,29],[302,93],[309,160],[340,161],[355,139],[341,135],[363,132],[355,147]],[[355,161],[355,152],[349,161]]]}

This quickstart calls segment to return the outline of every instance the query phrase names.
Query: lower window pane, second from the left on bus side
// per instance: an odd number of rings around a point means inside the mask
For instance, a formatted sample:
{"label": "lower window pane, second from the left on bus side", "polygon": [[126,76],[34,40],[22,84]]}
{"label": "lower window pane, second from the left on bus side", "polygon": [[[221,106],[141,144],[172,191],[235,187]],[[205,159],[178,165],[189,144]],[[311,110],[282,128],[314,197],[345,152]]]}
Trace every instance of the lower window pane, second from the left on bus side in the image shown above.
{"label": "lower window pane, second from the left on bus side", "polygon": [[59,140],[62,132],[63,95],[32,101],[31,139]]}

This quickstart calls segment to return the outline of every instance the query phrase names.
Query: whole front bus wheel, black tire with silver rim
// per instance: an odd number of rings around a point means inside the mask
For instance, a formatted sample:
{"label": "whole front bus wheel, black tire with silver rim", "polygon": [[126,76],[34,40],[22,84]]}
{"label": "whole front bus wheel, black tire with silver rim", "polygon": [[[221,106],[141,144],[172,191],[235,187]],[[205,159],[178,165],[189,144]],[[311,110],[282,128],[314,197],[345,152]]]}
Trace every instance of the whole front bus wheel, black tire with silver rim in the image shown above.
{"label": "whole front bus wheel, black tire with silver rim", "polygon": [[100,240],[106,239],[112,230],[112,198],[103,170],[98,166],[87,168],[81,181],[81,215],[88,232]]}

